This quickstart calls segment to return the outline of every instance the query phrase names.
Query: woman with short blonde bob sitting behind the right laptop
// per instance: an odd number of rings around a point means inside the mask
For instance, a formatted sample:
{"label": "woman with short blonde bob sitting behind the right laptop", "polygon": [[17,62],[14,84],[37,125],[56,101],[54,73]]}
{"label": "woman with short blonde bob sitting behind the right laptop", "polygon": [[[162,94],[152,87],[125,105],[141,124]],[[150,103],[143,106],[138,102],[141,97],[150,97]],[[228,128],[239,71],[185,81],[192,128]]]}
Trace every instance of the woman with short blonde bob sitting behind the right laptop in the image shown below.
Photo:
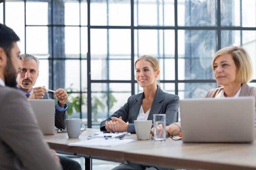
{"label": "woman with short blonde bob sitting behind the right laptop", "polygon": [[[256,87],[247,84],[252,80],[253,68],[252,60],[243,47],[228,46],[220,49],[214,55],[211,67],[221,87],[209,90],[205,97],[256,97]],[[180,129],[180,122],[166,126],[166,130],[173,135],[178,135],[177,130]]]}

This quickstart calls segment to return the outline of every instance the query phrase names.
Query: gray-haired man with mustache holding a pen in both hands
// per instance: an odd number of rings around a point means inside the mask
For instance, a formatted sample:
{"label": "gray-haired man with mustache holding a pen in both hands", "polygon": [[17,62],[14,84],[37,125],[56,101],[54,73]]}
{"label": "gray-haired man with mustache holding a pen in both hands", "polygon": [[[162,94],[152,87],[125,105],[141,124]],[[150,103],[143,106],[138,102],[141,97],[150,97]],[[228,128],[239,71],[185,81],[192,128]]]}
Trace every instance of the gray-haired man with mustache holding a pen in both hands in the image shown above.
{"label": "gray-haired man with mustache holding a pen in both hands", "polygon": [[[17,88],[27,96],[28,99],[50,99],[45,86],[35,87],[39,75],[39,60],[34,55],[20,55],[22,68],[17,76]],[[67,119],[67,92],[63,88],[58,88],[54,95],[58,102],[55,106],[55,126],[59,129],[66,128]],[[81,165],[68,157],[58,155],[64,170],[81,170]]]}

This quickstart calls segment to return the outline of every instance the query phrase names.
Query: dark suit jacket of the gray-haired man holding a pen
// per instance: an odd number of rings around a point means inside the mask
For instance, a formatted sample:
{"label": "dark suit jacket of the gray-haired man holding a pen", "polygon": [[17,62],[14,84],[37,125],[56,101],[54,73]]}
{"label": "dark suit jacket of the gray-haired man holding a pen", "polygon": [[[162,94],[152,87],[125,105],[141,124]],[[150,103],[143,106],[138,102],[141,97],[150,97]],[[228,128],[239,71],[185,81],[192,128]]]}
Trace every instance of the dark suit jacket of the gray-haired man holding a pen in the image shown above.
{"label": "dark suit jacket of the gray-haired man holding a pen", "polygon": [[[51,99],[49,97],[49,94],[47,93],[47,91],[45,92],[43,99]],[[67,119],[67,110],[62,112],[55,108],[55,126],[56,126],[56,128],[65,129],[66,128],[66,119]]]}

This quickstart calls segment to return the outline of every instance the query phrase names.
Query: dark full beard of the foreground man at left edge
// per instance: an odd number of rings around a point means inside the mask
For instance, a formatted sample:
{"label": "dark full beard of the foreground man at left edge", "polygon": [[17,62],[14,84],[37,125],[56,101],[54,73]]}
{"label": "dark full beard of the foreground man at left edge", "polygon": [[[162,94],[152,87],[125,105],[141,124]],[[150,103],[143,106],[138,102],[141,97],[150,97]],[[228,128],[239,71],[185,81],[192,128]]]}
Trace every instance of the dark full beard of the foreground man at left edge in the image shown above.
{"label": "dark full beard of the foreground man at left edge", "polygon": [[11,58],[7,57],[7,65],[4,68],[5,85],[16,88],[17,86],[16,77],[17,77],[17,71],[15,70],[15,68],[11,63]]}

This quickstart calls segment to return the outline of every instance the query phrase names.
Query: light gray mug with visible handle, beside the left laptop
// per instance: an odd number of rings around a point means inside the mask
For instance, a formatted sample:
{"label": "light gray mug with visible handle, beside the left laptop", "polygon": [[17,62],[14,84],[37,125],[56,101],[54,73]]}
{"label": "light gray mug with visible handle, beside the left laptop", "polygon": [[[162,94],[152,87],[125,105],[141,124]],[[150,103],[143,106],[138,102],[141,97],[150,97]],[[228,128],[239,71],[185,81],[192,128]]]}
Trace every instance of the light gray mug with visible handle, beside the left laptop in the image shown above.
{"label": "light gray mug with visible handle, beside the left laptop", "polygon": [[[81,119],[66,119],[67,135],[69,138],[78,138],[79,135],[87,128],[87,124]],[[85,124],[85,128],[81,131],[82,124]]]}

